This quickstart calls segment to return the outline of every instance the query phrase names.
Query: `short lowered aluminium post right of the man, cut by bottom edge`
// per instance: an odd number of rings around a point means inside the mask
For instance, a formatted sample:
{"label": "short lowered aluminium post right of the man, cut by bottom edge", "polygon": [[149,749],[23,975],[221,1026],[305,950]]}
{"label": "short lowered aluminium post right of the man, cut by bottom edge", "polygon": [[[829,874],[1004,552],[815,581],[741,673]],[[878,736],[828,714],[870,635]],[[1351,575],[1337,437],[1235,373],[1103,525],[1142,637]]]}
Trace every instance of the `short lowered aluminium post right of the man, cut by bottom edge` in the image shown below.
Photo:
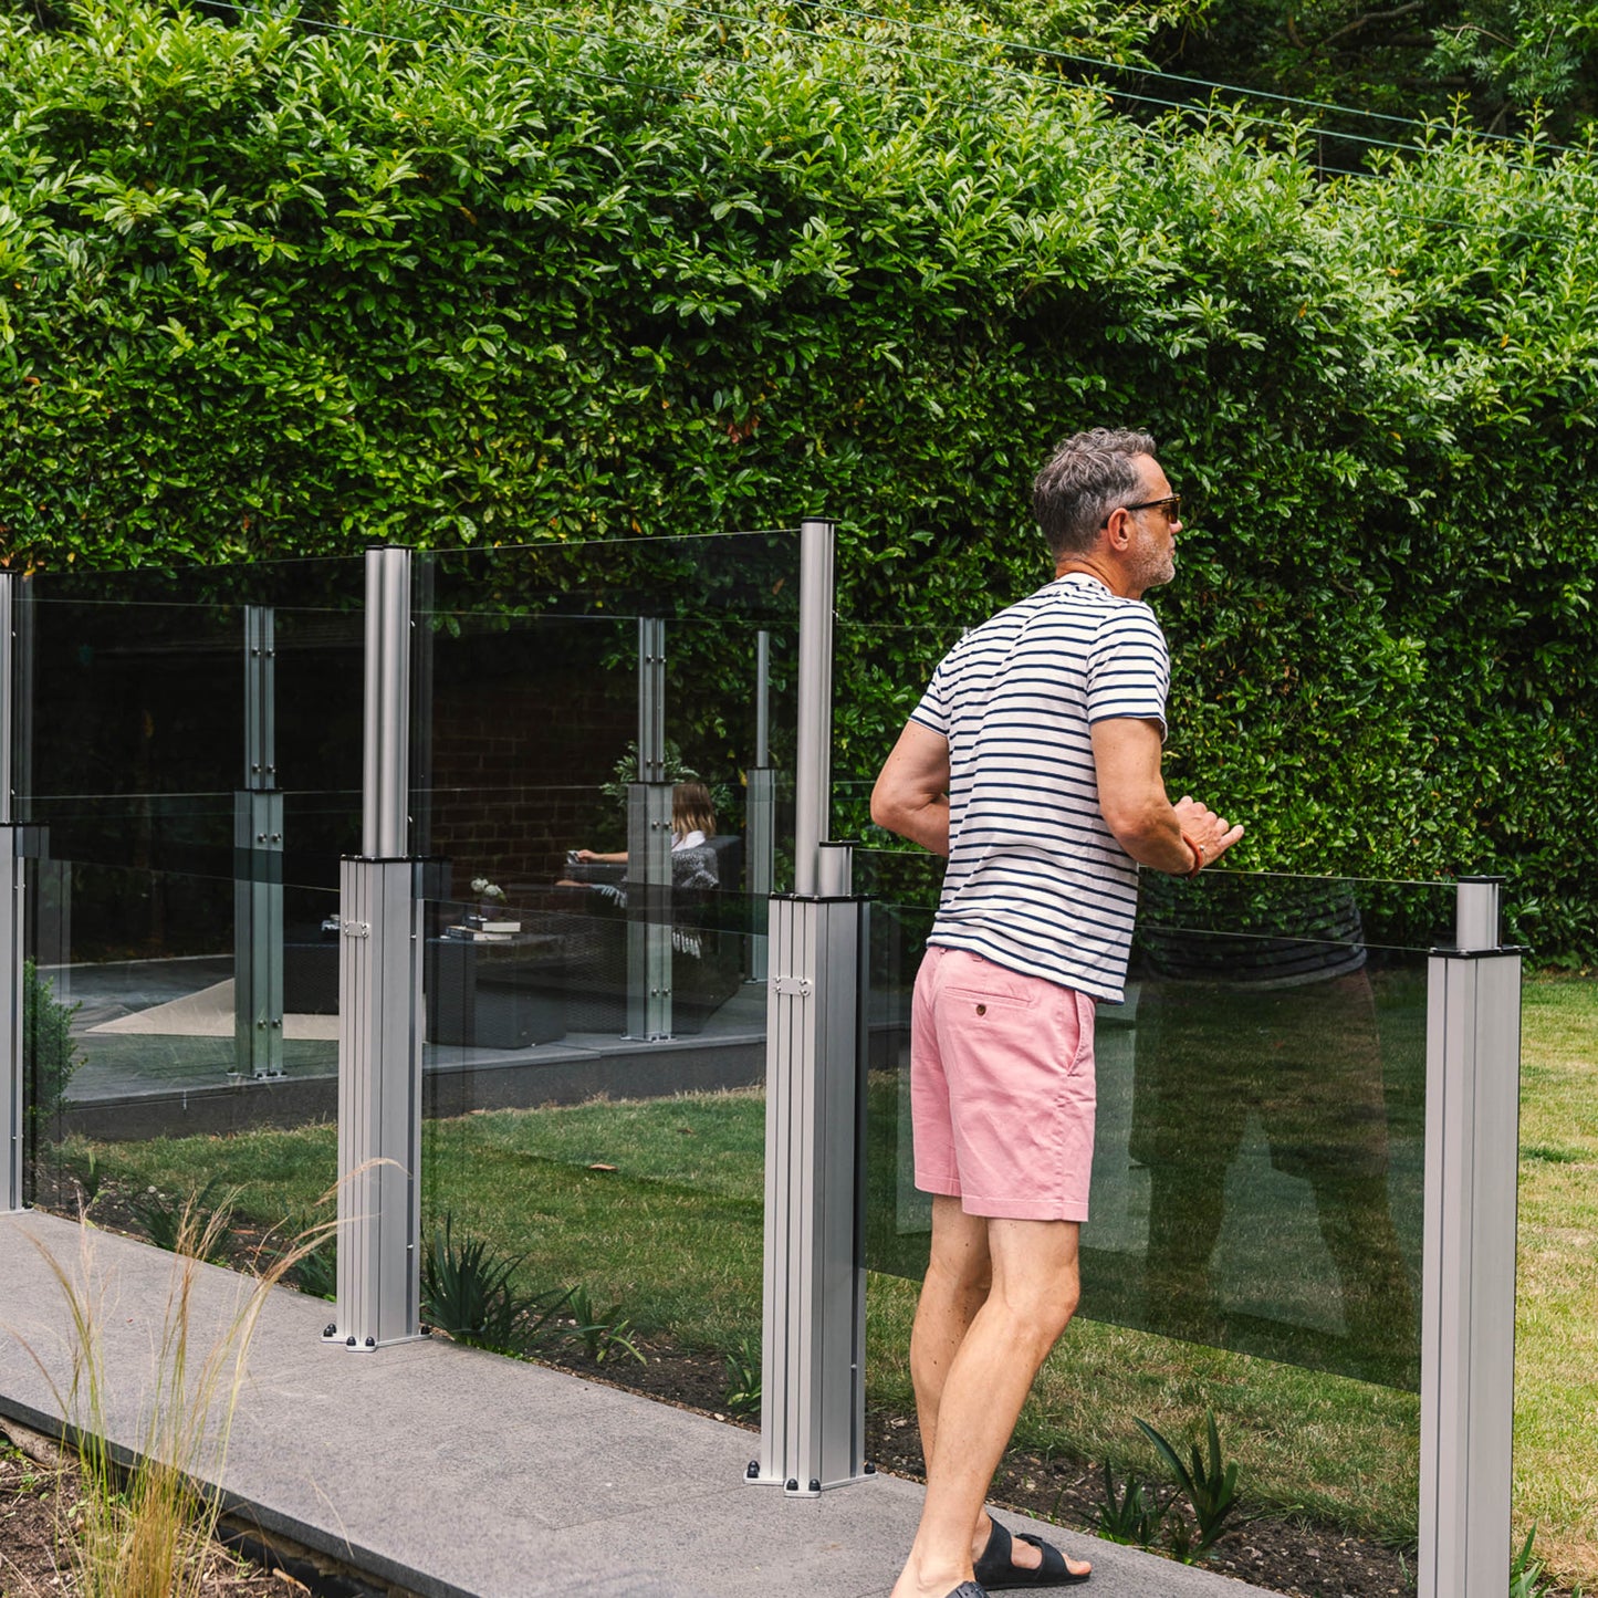
{"label": "short lowered aluminium post right of the man, cut by bottom edge", "polygon": [[1509,1580],[1521,951],[1501,885],[1461,879],[1427,972],[1419,1598]]}

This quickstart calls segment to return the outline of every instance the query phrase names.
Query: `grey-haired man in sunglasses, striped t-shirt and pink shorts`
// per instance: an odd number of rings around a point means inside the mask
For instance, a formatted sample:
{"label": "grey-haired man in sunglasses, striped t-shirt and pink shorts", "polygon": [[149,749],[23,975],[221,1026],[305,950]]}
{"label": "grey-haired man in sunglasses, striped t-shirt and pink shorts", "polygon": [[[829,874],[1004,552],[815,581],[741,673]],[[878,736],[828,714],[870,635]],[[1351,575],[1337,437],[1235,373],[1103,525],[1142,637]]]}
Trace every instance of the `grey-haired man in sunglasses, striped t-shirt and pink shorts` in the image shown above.
{"label": "grey-haired man in sunglasses, striped t-shirt and pink shorts", "polygon": [[949,857],[911,1036],[927,1501],[893,1598],[1090,1574],[1012,1542],[983,1501],[1077,1306],[1093,1007],[1122,1000],[1138,866],[1194,876],[1243,836],[1160,778],[1170,663],[1141,596],[1175,575],[1181,500],[1154,441],[1077,433],[1032,492],[1055,580],[944,657],[871,796],[879,825]]}

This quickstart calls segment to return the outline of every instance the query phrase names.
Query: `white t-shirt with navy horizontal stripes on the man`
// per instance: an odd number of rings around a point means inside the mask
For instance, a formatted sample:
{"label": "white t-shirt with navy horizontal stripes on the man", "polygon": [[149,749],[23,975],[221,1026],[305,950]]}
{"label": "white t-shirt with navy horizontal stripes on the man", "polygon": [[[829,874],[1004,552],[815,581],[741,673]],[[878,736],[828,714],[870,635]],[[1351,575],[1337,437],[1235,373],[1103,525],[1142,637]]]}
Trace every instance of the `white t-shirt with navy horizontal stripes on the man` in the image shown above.
{"label": "white t-shirt with navy horizontal stripes on the man", "polygon": [[1154,612],[1069,572],[967,633],[914,719],[949,740],[949,869],[928,943],[1122,1000],[1138,866],[1099,810],[1088,729],[1160,724]]}

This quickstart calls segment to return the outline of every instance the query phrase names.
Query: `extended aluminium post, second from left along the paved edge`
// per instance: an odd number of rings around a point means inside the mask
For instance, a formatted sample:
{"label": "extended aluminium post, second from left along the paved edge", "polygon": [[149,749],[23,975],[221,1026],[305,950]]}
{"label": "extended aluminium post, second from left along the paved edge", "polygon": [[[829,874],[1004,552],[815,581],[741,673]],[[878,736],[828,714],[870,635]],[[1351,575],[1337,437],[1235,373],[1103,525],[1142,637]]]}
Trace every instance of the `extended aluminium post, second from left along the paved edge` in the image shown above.
{"label": "extended aluminium post, second from left along the paved edge", "polygon": [[411,551],[366,551],[361,853],[339,868],[337,1320],[369,1352],[420,1333],[422,895],[409,844]]}

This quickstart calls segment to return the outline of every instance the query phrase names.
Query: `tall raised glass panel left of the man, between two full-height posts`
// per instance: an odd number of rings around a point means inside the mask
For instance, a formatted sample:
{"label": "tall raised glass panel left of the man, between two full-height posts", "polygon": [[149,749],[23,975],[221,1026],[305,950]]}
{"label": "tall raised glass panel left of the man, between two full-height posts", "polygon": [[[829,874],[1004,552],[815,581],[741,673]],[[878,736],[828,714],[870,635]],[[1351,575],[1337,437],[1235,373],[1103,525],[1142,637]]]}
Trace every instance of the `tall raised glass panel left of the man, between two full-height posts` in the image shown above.
{"label": "tall raised glass panel left of the man, between two full-height posts", "polygon": [[[797,537],[439,556],[415,593],[412,813],[455,895],[427,914],[425,1250],[447,1224],[455,1248],[519,1258],[529,1299],[570,1293],[497,1346],[636,1379],[628,1344],[650,1365],[711,1354],[718,1377],[733,1355],[753,1385],[757,978],[765,893],[789,869],[770,841],[793,831]],[[654,678],[641,617],[665,622]],[[660,890],[626,860],[650,681],[666,775],[703,783],[714,820],[678,818],[673,839],[710,836],[671,850]]]}

